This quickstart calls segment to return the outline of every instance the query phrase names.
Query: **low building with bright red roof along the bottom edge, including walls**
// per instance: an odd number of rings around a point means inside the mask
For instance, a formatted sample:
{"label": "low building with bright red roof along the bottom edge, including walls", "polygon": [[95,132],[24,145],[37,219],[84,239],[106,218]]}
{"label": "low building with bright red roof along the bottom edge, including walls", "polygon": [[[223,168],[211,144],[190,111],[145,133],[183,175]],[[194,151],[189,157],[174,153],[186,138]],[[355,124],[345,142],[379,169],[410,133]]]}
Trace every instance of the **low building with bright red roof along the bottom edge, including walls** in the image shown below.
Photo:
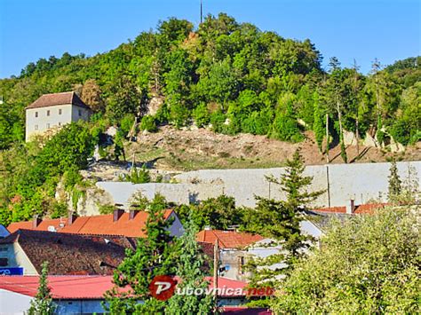
{"label": "low building with bright red roof along the bottom edge, including walls", "polygon": [[[112,276],[49,276],[48,285],[52,290],[52,300],[58,307],[56,312],[103,313],[101,303],[104,302],[104,294],[113,287],[112,280]],[[213,279],[207,277],[206,280],[212,289]],[[38,276],[0,277],[0,313],[23,314],[28,311],[30,302],[36,295],[38,283]],[[247,303],[250,291],[246,286],[246,282],[218,278],[218,306],[223,310],[234,310],[233,306]],[[242,307],[241,310],[245,309]]]}

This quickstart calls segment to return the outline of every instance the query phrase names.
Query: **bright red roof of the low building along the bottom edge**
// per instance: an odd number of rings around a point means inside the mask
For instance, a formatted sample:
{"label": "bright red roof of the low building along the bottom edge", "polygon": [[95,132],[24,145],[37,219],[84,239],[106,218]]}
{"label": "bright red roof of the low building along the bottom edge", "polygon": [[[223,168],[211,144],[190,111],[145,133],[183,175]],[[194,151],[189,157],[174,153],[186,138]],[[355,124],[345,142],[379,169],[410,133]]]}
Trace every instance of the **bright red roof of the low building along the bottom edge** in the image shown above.
{"label": "bright red roof of the low building along the bottom edge", "polygon": [[[206,277],[213,287],[211,277]],[[35,296],[38,289],[39,276],[0,276],[0,289]],[[53,299],[103,299],[104,293],[113,285],[112,276],[49,276],[48,286],[52,289]],[[235,289],[244,288],[246,282],[218,278],[219,296],[243,296],[235,294]],[[226,292],[223,288],[233,288]],[[225,293],[225,294],[224,294]]]}

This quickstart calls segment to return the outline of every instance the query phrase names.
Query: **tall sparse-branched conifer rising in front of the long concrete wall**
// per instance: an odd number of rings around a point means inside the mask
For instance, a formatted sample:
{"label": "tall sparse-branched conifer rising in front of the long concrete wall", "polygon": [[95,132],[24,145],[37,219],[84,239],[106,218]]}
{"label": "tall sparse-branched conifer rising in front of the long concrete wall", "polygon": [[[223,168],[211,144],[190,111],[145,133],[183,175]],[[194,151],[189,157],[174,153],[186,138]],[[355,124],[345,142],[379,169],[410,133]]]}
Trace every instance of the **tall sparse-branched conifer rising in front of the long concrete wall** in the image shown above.
{"label": "tall sparse-branched conifer rising in front of the long concrete wall", "polygon": [[[287,167],[280,179],[267,177],[269,182],[281,186],[281,190],[287,194],[287,200],[257,198],[258,206],[251,213],[246,230],[270,238],[272,241],[267,244],[268,248],[282,250],[265,258],[250,260],[247,265],[247,269],[252,272],[250,287],[279,287],[293,264],[304,255],[303,249],[309,247],[312,238],[300,230],[300,222],[304,219],[303,209],[323,191],[308,192],[313,177],[304,176],[304,170],[304,159],[298,148],[292,160],[287,160]],[[258,305],[267,306],[268,301],[259,301]]]}

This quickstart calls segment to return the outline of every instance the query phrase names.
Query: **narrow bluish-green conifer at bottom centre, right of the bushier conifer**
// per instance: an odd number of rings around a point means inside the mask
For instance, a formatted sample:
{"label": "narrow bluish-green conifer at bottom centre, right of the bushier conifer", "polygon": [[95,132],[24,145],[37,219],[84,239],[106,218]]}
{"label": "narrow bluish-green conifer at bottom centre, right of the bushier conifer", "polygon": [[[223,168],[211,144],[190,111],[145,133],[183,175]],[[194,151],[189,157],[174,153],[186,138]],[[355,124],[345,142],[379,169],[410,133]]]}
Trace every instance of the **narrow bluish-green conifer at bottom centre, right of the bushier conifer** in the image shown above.
{"label": "narrow bluish-green conifer at bottom centre, right of the bushier conifer", "polygon": [[[182,292],[202,288],[204,291],[209,286],[209,282],[205,280],[206,261],[195,240],[197,229],[193,220],[187,221],[185,231],[177,241],[177,275],[180,280],[178,290]],[[212,307],[212,295],[173,295],[165,308],[165,314],[210,314]]]}

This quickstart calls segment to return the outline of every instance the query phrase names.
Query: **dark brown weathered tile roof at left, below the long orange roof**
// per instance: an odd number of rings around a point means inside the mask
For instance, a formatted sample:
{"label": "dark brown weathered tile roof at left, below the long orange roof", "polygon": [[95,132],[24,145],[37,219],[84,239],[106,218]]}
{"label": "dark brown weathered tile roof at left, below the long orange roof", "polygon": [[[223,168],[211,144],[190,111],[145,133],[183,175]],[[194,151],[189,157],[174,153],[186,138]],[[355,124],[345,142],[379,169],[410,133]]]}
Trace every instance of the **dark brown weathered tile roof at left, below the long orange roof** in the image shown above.
{"label": "dark brown weathered tile roof at left, below the long orange roof", "polygon": [[60,232],[19,230],[0,244],[17,242],[36,272],[49,263],[49,274],[113,274],[122,263],[125,249],[134,249],[136,240],[123,236],[78,235]]}

